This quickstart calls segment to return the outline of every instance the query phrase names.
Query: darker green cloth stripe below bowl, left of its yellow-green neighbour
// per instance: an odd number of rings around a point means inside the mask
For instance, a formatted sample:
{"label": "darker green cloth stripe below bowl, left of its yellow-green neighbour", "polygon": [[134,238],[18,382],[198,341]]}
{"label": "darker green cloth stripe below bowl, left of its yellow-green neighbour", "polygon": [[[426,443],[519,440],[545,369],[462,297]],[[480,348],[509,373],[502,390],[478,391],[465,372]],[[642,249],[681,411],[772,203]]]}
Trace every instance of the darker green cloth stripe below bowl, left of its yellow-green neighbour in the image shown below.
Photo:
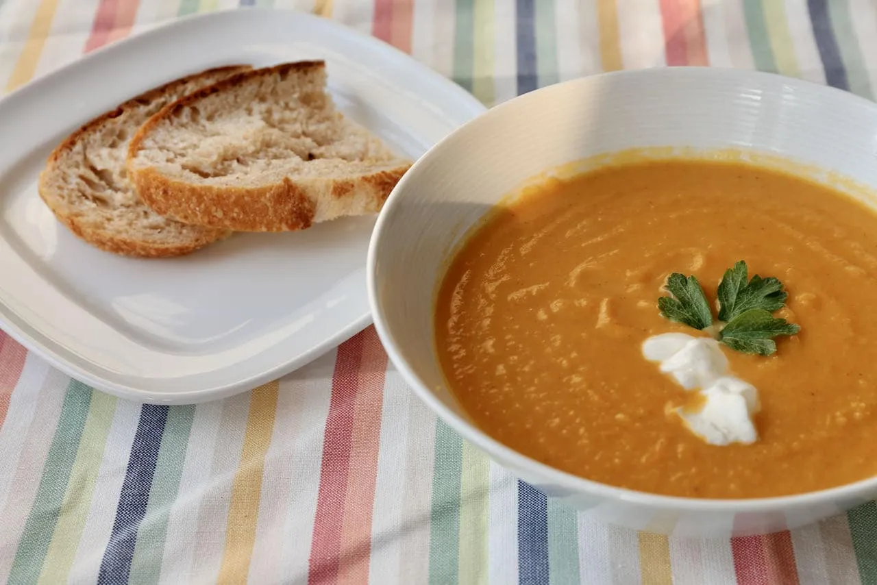
{"label": "darker green cloth stripe below bowl, left of its yellow-green neighbour", "polygon": [[434,585],[457,582],[462,466],[462,439],[437,419],[430,514],[430,583]]}

